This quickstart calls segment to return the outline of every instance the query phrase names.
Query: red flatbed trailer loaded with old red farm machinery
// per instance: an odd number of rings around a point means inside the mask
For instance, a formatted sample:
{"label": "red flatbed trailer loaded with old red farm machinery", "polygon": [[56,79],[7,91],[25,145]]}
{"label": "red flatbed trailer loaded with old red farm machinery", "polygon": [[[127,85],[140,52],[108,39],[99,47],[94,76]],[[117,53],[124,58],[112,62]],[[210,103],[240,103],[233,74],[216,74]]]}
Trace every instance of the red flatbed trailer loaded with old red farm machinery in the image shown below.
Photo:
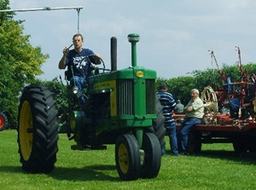
{"label": "red flatbed trailer loaded with old red farm machinery", "polygon": [[[241,66],[241,52],[237,66],[241,72],[240,82],[231,82],[230,78],[218,67],[223,81],[223,89],[214,91],[207,86],[201,93],[205,106],[205,116],[201,124],[189,133],[189,153],[200,153],[202,143],[233,143],[238,153],[247,151],[256,153],[256,123],[254,118],[254,97],[256,92],[255,75],[250,78]],[[212,59],[218,66],[213,51]],[[174,115],[177,121],[184,115]],[[177,129],[180,123],[177,122]]]}

